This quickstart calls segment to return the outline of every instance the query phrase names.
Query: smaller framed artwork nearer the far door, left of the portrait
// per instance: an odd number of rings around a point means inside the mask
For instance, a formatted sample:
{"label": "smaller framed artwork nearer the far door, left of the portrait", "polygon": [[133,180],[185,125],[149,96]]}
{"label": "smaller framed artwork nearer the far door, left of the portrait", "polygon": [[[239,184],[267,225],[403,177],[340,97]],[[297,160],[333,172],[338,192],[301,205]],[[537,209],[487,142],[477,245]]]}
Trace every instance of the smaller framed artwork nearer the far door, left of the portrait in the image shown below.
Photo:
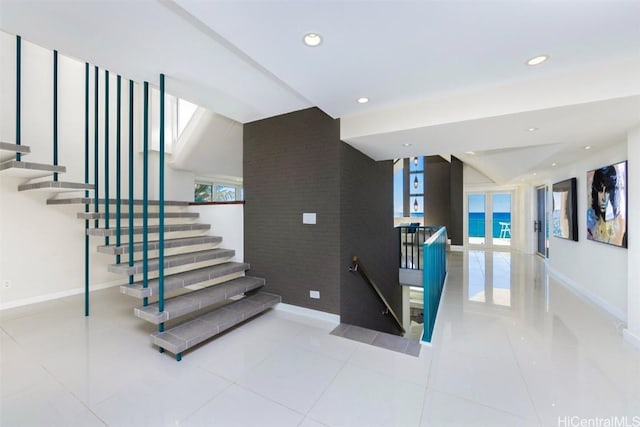
{"label": "smaller framed artwork nearer the far door, left of the portrait", "polygon": [[553,184],[553,235],[578,241],[577,179],[570,178]]}

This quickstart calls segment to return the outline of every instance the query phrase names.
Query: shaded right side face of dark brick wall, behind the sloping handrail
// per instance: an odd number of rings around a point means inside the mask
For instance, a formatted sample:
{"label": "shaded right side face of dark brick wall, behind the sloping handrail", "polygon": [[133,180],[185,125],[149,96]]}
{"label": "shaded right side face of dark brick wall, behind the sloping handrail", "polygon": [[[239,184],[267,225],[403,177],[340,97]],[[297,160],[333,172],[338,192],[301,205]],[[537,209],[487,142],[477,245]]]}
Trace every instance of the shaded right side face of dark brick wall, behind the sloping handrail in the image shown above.
{"label": "shaded right side face of dark brick wall, behind the sloping handrail", "polygon": [[355,148],[341,146],[340,314],[343,323],[399,334],[384,305],[358,273],[353,256],[402,316],[398,281],[399,242],[393,227],[393,162],[376,162]]}

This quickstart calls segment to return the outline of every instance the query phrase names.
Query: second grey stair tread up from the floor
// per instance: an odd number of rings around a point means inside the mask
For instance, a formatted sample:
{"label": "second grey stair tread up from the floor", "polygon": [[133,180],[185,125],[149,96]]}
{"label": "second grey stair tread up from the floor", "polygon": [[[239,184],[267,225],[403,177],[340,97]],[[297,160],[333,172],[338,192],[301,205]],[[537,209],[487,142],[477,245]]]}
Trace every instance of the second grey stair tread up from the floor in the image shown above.
{"label": "second grey stair tread up from the floor", "polygon": [[164,311],[158,312],[158,303],[134,308],[134,314],[147,322],[160,324],[193,313],[227,300],[236,295],[264,286],[265,280],[257,277],[238,277],[228,282],[209,286],[165,300]]}

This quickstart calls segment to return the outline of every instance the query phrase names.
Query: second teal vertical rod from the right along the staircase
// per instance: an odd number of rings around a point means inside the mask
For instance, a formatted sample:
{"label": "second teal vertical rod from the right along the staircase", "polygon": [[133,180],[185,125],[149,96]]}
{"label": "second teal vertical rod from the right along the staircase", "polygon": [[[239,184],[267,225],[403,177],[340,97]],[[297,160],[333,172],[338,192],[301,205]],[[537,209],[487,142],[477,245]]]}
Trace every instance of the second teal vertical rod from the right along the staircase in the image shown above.
{"label": "second teal vertical rod from the right along the staircase", "polygon": [[[149,287],[149,83],[144,82],[144,123],[142,137],[142,287]],[[143,305],[149,305],[144,298]]]}

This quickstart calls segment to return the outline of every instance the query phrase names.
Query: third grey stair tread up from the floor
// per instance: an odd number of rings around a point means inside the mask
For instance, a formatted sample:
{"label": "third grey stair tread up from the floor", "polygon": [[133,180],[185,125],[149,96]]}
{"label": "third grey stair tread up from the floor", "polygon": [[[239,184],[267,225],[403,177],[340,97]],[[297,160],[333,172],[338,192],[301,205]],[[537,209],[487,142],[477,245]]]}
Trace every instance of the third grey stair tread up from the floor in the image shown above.
{"label": "third grey stair tread up from the floor", "polygon": [[[249,270],[249,264],[244,262],[225,262],[223,264],[198,268],[196,270],[176,273],[164,278],[165,292],[184,288],[186,286],[197,285],[208,280],[228,276],[235,273],[243,273]],[[142,282],[131,285],[120,286],[120,292],[136,298],[149,298],[158,295],[158,279],[151,279],[148,286],[144,288]]]}

